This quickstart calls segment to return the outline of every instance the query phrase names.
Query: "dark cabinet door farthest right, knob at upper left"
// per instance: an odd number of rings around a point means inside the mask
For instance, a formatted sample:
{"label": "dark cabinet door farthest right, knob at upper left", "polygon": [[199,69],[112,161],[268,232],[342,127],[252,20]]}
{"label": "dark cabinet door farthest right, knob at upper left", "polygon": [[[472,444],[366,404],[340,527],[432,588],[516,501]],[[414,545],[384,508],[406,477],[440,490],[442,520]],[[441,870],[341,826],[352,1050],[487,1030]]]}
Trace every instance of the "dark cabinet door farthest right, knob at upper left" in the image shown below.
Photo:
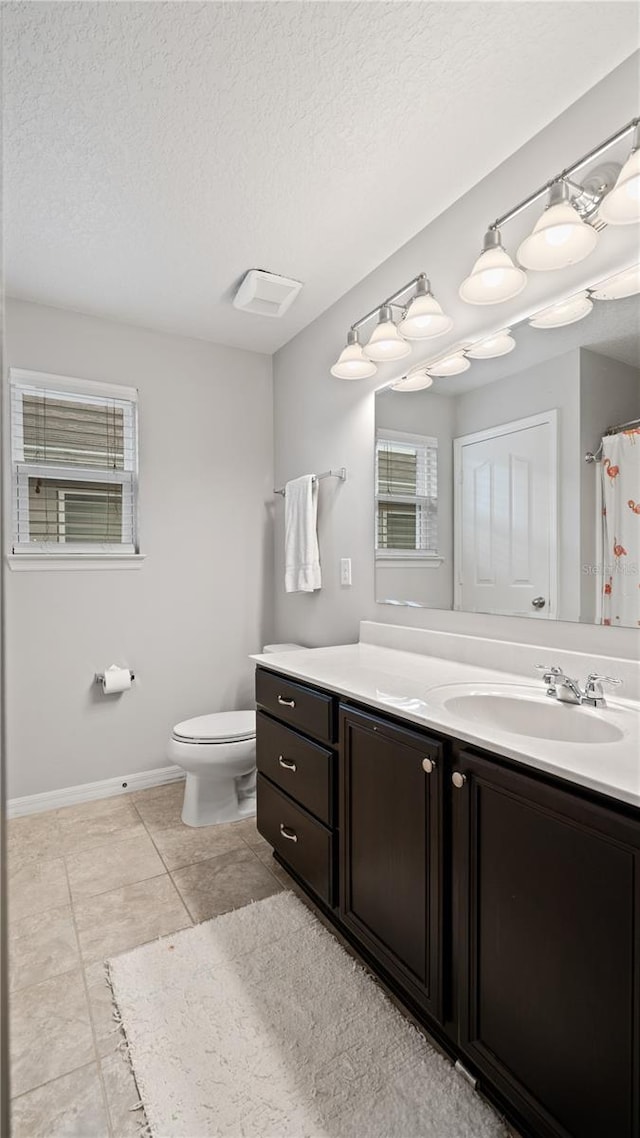
{"label": "dark cabinet door farthest right, knob at upper left", "polygon": [[536,1135],[638,1138],[640,825],[466,750],[452,780],[462,1049]]}

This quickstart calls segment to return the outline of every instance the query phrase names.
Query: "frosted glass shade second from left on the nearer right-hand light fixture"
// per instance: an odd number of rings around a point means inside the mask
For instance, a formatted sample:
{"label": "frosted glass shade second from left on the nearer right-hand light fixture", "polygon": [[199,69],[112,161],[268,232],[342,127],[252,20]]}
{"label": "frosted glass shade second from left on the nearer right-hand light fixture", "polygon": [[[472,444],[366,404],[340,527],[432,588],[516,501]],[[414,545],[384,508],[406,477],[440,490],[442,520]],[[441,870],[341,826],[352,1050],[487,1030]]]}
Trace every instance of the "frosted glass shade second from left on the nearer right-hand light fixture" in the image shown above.
{"label": "frosted glass shade second from left on the nearer right-hand light fixture", "polygon": [[518,249],[525,269],[544,272],[575,265],[594,249],[598,233],[569,201],[564,182],[551,187],[549,205]]}

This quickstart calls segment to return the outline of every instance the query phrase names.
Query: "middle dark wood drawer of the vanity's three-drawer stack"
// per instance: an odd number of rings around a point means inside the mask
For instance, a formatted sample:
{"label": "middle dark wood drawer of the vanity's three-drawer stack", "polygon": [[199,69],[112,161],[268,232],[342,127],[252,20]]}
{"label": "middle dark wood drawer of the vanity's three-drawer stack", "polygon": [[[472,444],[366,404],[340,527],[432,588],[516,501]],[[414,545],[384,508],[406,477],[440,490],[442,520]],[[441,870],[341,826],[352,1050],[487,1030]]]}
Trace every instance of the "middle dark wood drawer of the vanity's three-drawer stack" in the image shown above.
{"label": "middle dark wood drawer of the vanity's three-drawer stack", "polygon": [[328,826],[333,824],[334,754],[290,727],[256,716],[257,769]]}

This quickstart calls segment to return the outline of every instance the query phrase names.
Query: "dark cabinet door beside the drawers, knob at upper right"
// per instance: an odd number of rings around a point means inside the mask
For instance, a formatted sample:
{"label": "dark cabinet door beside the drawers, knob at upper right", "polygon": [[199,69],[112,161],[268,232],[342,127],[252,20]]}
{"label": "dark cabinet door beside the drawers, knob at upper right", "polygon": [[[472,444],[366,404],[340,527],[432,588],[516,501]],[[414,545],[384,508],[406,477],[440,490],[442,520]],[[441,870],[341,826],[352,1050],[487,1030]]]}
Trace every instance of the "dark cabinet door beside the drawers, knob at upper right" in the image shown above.
{"label": "dark cabinet door beside the drawers, knob at upper right", "polygon": [[352,710],[340,737],[340,917],[440,1019],[442,747]]}

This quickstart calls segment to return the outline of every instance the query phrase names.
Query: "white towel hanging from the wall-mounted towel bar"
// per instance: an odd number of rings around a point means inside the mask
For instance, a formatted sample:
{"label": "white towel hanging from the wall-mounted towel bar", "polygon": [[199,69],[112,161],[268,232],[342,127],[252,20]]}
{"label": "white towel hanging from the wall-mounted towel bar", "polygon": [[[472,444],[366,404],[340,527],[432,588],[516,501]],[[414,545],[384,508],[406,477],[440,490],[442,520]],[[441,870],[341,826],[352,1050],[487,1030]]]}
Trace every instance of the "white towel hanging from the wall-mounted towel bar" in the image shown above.
{"label": "white towel hanging from the wall-mounted towel bar", "polygon": [[285,592],[313,593],[321,585],[318,483],[303,475],[285,486]]}

